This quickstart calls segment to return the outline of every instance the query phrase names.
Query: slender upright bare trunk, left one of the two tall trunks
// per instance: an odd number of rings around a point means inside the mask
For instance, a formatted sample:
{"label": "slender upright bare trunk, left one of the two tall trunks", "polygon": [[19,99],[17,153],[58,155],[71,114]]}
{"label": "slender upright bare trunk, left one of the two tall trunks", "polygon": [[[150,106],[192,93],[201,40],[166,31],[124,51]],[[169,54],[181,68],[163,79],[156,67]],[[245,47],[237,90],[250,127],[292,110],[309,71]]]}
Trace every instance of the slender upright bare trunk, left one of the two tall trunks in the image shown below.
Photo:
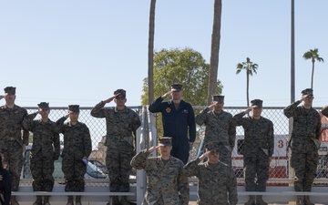
{"label": "slender upright bare trunk, left one of the two tall trunks", "polygon": [[154,35],[155,35],[155,7],[156,0],[151,0],[149,11],[149,105],[154,101]]}

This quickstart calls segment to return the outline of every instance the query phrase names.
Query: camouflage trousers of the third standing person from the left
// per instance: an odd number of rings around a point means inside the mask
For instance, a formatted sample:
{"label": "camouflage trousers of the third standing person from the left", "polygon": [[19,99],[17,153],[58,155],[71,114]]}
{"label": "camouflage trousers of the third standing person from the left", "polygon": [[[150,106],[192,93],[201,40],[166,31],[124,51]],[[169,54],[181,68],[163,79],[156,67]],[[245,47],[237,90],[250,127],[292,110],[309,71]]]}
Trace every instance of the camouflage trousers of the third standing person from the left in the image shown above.
{"label": "camouflage trousers of the third standing person from the left", "polygon": [[65,191],[84,191],[87,165],[82,159],[63,157],[62,169],[66,179]]}

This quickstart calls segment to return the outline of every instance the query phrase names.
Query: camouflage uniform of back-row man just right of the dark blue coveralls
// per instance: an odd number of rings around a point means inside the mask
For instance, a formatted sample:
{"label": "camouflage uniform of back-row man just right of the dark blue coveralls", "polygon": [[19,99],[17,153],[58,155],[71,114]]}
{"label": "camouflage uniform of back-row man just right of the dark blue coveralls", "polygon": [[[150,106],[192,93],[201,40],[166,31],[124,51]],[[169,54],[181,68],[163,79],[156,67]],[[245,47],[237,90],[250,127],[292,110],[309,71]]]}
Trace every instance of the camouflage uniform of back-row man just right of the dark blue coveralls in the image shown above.
{"label": "camouflage uniform of back-row man just right of the dark blue coveralls", "polygon": [[[206,145],[210,141],[222,144],[220,161],[231,165],[231,152],[236,140],[236,127],[231,113],[222,110],[220,114],[216,114],[214,110],[210,111],[210,108],[205,108],[196,116],[195,122],[199,125],[206,125],[202,144]],[[204,152],[205,148],[201,149]]]}

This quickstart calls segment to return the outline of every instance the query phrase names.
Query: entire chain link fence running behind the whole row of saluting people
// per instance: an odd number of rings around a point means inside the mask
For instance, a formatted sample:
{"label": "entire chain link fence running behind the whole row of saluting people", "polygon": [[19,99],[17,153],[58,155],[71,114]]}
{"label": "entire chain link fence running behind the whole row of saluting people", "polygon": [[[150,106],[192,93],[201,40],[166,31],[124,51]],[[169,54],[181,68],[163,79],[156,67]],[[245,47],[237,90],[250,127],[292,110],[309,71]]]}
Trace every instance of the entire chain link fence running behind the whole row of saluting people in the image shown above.
{"label": "entire chain link fence running behind the whole row of saluting people", "polygon": [[[137,113],[141,112],[142,107],[129,107],[134,109]],[[198,114],[200,110],[205,107],[194,107],[195,114]],[[26,108],[27,112],[34,113],[37,108]],[[92,161],[96,166],[96,172],[94,169],[89,169],[90,172],[94,171],[94,175],[86,174],[86,178],[89,179],[106,179],[106,166],[105,157],[106,157],[106,146],[104,146],[104,139],[106,136],[106,119],[105,118],[93,118],[90,115],[92,108],[80,108],[80,114],[78,120],[87,124],[87,127],[90,130],[91,139],[92,139],[92,153],[89,156],[90,162]],[[224,110],[230,112],[232,116],[242,112],[246,108],[243,107],[225,107]],[[317,108],[319,110],[319,108]],[[289,119],[283,115],[283,108],[263,108],[262,117],[269,118],[273,122],[274,127],[274,154],[272,156],[272,161],[270,164],[270,179],[291,179],[292,176],[289,174],[289,158],[288,158],[288,138],[289,138]],[[49,118],[53,121],[56,121],[59,118],[67,115],[67,108],[51,108]],[[37,116],[36,118],[40,118]],[[159,115],[157,115],[159,118]],[[67,119],[69,120],[69,119]],[[200,145],[201,133],[204,131],[204,126],[197,127],[197,140],[195,142],[195,148],[190,153],[190,159],[193,159],[197,155],[197,151]],[[241,145],[243,141],[243,129],[241,127],[236,128],[236,144],[235,148],[232,151],[232,167],[236,172],[236,176],[239,179],[244,177],[243,169],[243,157],[240,153]],[[61,144],[63,144],[63,136],[60,136]],[[29,155],[28,148],[33,144],[33,135],[30,133],[30,146],[27,147],[25,153],[25,165],[22,173],[22,178],[31,179],[31,174],[29,170]],[[328,143],[322,142],[322,147],[319,150],[319,165],[317,171],[317,178],[327,178],[327,152],[328,152]],[[55,162],[55,172],[54,177],[56,179],[64,179],[64,174],[61,170],[61,161],[60,159]],[[100,171],[98,171],[100,170]],[[100,172],[100,173],[98,173]],[[104,175],[101,174],[105,174]],[[107,177],[108,178],[108,177]],[[31,179],[32,180],[32,179]],[[277,185],[273,184],[272,185]],[[96,186],[96,185],[95,185]]]}

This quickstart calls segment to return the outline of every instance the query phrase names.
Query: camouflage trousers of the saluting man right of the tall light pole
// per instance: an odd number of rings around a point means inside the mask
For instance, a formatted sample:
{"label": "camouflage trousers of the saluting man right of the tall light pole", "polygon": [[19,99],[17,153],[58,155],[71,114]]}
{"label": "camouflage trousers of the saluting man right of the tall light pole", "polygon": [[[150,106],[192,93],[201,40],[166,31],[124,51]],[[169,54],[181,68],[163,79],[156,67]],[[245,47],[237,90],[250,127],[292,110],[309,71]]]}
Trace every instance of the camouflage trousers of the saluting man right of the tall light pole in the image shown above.
{"label": "camouflage trousers of the saluting man right of the tall light pole", "polygon": [[304,151],[292,148],[291,166],[295,170],[295,191],[311,191],[317,165],[317,149],[313,147],[311,151]]}

